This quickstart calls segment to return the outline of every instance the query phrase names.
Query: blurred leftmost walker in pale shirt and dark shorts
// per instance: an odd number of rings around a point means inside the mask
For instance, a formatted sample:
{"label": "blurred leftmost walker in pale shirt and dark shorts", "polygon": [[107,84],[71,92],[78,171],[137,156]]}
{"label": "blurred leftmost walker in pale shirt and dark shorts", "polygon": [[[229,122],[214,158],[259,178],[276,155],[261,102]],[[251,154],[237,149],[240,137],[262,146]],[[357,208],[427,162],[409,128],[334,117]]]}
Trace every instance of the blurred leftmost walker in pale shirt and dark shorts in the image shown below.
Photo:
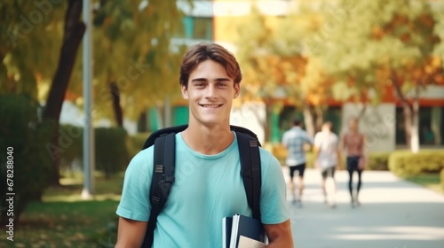
{"label": "blurred leftmost walker in pale shirt and dark shorts", "polygon": [[[313,145],[313,139],[302,129],[301,120],[293,120],[293,127],[282,136],[282,144],[287,149],[285,164],[289,167],[289,190],[293,196],[293,203],[302,206],[302,193],[304,191],[305,172],[305,144]],[[298,195],[295,195],[293,176],[297,171],[299,177]]]}

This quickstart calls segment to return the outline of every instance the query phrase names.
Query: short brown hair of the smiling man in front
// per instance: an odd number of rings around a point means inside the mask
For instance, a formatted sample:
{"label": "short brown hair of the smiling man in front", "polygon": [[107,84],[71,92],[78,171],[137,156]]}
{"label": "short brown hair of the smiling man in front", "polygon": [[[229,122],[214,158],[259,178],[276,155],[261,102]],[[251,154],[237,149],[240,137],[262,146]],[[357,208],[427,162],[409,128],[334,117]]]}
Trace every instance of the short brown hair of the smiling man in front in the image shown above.
{"label": "short brown hair of the smiling man in front", "polygon": [[190,47],[182,58],[180,77],[178,80],[180,85],[184,85],[187,88],[191,72],[193,72],[195,67],[208,59],[224,66],[226,74],[233,78],[234,83],[240,83],[242,81],[241,68],[236,58],[234,58],[233,53],[216,43],[198,43]]}

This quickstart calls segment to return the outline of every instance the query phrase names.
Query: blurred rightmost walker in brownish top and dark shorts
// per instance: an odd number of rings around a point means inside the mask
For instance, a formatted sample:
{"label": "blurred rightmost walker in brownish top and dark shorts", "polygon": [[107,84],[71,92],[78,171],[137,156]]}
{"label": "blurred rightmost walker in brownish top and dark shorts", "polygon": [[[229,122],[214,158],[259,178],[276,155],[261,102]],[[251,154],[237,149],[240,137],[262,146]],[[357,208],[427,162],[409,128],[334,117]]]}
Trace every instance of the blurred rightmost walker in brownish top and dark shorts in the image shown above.
{"label": "blurred rightmost walker in brownish top and dark shorts", "polygon": [[[361,205],[359,201],[359,193],[361,190],[362,171],[367,164],[367,156],[365,155],[365,135],[359,131],[358,119],[352,118],[348,122],[348,131],[342,136],[342,147],[347,154],[347,170],[349,174],[348,190],[350,191],[350,197],[352,199],[352,207]],[[353,191],[353,174],[358,174],[358,184],[356,191]]]}

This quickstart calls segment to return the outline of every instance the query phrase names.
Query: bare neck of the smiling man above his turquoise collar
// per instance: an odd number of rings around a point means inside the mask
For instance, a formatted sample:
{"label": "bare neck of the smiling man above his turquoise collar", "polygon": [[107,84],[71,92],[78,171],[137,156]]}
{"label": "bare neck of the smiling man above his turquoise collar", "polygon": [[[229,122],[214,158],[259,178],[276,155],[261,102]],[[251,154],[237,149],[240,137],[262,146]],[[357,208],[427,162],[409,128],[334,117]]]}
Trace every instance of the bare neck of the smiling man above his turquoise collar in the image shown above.
{"label": "bare neck of the smiling man above his turquoise collar", "polygon": [[192,150],[214,155],[226,150],[233,143],[234,135],[229,124],[207,127],[190,123],[182,132],[182,138]]}

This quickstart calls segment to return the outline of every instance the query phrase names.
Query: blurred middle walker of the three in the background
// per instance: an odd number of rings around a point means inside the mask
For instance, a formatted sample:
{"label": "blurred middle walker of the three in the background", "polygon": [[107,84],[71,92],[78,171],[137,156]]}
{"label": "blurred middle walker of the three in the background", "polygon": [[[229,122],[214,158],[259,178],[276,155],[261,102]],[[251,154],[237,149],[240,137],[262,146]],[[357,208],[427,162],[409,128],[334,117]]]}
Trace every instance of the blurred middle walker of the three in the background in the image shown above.
{"label": "blurred middle walker of the three in the background", "polygon": [[341,152],[339,138],[332,132],[332,128],[333,124],[327,121],[322,125],[321,132],[314,136],[314,165],[321,170],[324,202],[335,208],[337,190],[335,170],[336,167],[340,168]]}

